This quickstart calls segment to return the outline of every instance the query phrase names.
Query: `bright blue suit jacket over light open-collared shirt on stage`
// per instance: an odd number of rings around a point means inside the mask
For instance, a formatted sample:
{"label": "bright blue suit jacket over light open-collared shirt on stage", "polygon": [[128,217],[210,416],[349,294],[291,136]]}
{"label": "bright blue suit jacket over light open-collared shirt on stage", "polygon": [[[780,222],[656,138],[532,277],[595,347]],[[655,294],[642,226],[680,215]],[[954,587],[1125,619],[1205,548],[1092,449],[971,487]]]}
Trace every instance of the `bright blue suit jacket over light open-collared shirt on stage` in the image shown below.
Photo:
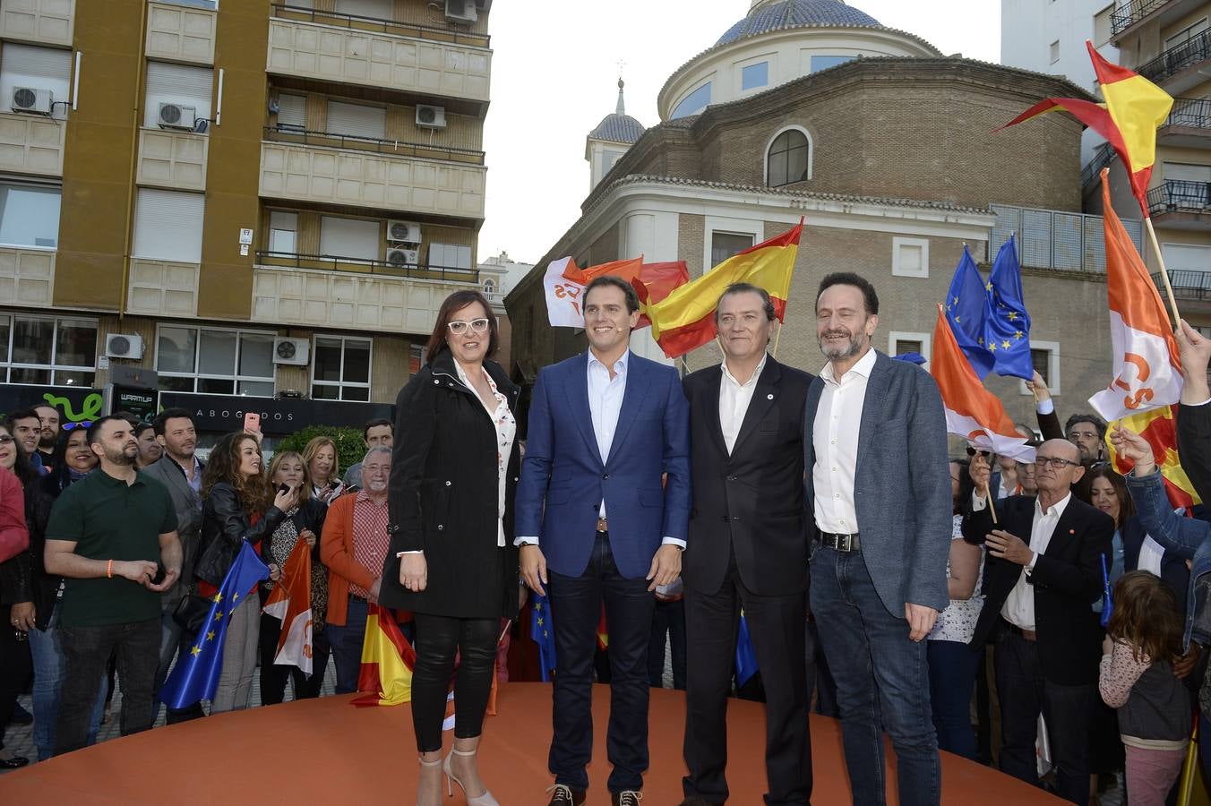
{"label": "bright blue suit jacket over light open-collared shirt on stage", "polygon": [[689,404],[677,370],[631,353],[618,428],[603,462],[589,410],[587,370],[585,352],[539,372],[515,534],[538,536],[551,570],[580,576],[604,499],[614,562],[633,580],[647,576],[665,536],[685,540]]}

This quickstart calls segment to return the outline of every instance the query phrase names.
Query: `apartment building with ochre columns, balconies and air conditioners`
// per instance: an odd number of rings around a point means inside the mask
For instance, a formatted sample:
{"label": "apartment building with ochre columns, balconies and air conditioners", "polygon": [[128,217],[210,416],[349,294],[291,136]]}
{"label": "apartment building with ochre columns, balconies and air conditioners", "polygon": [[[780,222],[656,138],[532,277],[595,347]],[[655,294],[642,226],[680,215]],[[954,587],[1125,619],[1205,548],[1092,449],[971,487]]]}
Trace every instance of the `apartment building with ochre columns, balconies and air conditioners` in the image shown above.
{"label": "apartment building with ochre columns, balconies and air conditioners", "polygon": [[0,1],[0,410],[133,373],[295,427],[381,411],[481,286],[489,11]]}

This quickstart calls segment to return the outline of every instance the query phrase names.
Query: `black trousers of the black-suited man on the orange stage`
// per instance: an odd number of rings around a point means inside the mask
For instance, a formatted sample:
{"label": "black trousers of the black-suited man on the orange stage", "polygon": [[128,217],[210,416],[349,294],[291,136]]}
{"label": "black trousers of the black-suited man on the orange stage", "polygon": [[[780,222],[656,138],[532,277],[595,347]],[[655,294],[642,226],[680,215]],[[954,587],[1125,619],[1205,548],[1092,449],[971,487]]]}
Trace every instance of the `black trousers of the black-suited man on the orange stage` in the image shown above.
{"label": "black trousers of the black-suited man on the orange stage", "polygon": [[[688,675],[685,689],[687,798],[728,799],[728,693],[736,657],[741,608],[765,686],[767,804],[811,800],[808,730],[807,594],[762,597],[745,587],[735,558],[716,593],[685,588]],[[613,646],[610,646],[613,651]]]}

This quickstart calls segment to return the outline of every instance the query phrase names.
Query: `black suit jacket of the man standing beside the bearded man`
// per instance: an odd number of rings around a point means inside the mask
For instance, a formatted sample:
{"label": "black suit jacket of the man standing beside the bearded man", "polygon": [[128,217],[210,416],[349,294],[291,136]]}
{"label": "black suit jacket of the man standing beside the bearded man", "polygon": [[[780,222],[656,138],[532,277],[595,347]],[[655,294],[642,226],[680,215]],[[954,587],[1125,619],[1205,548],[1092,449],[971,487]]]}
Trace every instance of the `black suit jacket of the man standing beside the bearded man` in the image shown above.
{"label": "black suit jacket of the man standing beside the bearded man", "polygon": [[799,593],[808,587],[803,409],[813,376],[767,357],[731,455],[719,425],[722,376],[716,365],[684,379],[694,503],[682,576],[716,593],[734,551],[753,593]]}

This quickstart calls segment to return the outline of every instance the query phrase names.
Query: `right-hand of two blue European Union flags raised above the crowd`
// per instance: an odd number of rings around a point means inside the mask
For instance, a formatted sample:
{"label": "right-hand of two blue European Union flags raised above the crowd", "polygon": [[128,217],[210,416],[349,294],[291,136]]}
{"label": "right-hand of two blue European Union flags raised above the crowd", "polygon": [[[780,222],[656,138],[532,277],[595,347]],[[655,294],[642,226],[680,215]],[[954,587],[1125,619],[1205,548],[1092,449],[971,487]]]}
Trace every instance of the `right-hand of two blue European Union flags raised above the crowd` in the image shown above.
{"label": "right-hand of two blue European Union flags raised above the crowd", "polygon": [[993,357],[993,372],[1023,380],[1034,378],[1031,361],[1031,316],[1022,300],[1022,269],[1011,236],[997,253],[988,277],[985,346]]}

